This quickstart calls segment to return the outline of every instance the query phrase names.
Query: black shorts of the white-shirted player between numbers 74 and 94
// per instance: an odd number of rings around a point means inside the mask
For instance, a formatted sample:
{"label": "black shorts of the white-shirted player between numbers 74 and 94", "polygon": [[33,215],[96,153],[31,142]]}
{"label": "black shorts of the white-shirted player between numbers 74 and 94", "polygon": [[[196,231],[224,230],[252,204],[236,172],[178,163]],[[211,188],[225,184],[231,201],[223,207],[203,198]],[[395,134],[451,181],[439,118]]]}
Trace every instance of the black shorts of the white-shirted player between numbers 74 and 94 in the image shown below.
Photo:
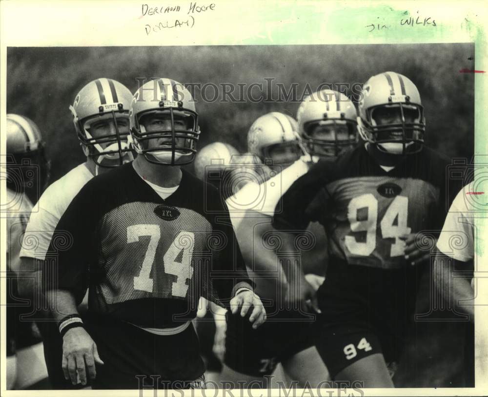
{"label": "black shorts of the white-shirted player between numbers 74 and 94", "polygon": [[296,312],[280,311],[257,329],[249,317],[227,312],[224,363],[249,376],[270,375],[276,365],[313,346],[312,320]]}

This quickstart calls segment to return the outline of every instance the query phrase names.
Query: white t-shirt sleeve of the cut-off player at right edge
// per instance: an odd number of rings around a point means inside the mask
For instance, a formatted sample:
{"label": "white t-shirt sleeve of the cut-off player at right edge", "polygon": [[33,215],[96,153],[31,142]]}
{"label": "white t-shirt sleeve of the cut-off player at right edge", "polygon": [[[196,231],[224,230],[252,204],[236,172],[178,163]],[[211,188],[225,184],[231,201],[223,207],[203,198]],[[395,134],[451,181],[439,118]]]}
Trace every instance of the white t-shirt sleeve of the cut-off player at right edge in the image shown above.
{"label": "white t-shirt sleeve of the cut-off player at right edge", "polygon": [[467,208],[465,189],[461,189],[449,208],[437,248],[444,255],[467,262],[474,257],[474,227]]}

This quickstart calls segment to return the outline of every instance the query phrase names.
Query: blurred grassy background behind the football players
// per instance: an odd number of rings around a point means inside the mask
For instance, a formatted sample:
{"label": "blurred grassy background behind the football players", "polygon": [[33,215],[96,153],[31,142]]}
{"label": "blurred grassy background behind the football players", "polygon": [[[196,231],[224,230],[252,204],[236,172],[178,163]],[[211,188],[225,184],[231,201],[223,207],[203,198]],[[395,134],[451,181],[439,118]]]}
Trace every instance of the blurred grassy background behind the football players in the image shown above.
{"label": "blurred grassy background behind the football players", "polygon": [[[427,119],[427,144],[448,157],[471,159],[474,151],[474,45],[301,45],[8,48],[7,113],[33,119],[52,161],[52,180],[84,161],[68,106],[89,81],[116,79],[134,92],[136,78],[167,77],[182,83],[261,83],[273,78],[298,97],[309,84],[363,83],[395,71],[419,88]],[[213,96],[208,89],[207,97]],[[224,141],[245,151],[246,134],[270,111],[296,114],[298,102],[204,102],[195,91],[202,128],[200,147]],[[258,88],[252,91],[260,96]],[[266,96],[266,92],[262,93]],[[346,94],[352,94],[349,90]],[[274,86],[273,97],[277,90]],[[425,307],[428,288],[419,301]],[[463,324],[423,323],[407,346],[397,386],[462,386]],[[416,336],[416,338],[413,338]]]}

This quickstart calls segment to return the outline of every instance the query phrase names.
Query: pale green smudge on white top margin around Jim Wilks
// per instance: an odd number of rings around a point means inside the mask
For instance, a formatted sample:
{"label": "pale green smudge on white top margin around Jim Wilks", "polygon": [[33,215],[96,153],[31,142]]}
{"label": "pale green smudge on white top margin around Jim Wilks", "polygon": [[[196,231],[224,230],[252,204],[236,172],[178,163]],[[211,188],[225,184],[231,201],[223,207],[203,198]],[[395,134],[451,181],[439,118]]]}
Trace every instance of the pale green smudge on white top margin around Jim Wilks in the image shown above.
{"label": "pale green smudge on white top margin around Jim Wilks", "polygon": [[468,19],[460,26],[443,20],[442,13],[437,18],[423,12],[420,5],[419,10],[405,10],[385,4],[368,7],[324,4],[327,3],[276,5],[272,12],[254,18],[255,29],[243,32],[246,37],[239,44],[427,43],[449,40],[453,32],[459,32],[459,37],[451,42],[466,42],[473,33]]}

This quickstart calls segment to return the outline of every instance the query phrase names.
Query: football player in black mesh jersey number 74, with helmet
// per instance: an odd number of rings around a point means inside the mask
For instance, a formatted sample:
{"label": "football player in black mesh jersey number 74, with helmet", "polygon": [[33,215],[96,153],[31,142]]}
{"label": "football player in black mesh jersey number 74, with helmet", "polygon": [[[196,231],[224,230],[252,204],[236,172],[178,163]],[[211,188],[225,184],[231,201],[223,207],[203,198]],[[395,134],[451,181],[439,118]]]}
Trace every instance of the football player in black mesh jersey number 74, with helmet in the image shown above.
{"label": "football player in black mesh jersey number 74, with helmet", "polygon": [[[129,115],[137,158],[88,181],[55,232],[70,237],[57,252],[58,279],[46,280],[62,369],[73,383],[91,378],[95,389],[203,388],[191,323],[199,297],[253,327],[265,311],[217,191],[182,170],[200,135],[189,91],[150,80]],[[77,305],[88,286],[81,320]]]}

